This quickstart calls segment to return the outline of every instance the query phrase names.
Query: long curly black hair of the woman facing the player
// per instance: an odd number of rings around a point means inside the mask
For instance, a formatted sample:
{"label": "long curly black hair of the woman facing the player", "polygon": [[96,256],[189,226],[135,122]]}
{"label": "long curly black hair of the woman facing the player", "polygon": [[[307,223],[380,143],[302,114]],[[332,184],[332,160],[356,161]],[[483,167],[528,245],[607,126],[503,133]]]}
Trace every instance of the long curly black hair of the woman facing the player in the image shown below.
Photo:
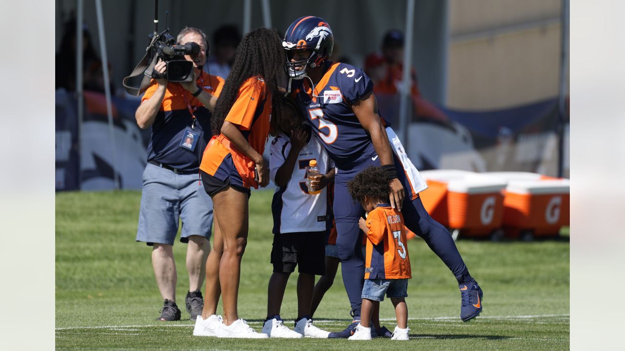
{"label": "long curly black hair of the woman facing the player", "polygon": [[282,69],[286,54],[282,49],[282,40],[275,29],[257,28],[246,34],[236,49],[236,57],[232,64],[226,84],[217,99],[217,105],[211,118],[212,134],[219,134],[221,126],[234,101],[239,87],[250,77],[262,77],[267,92],[276,101],[276,73]]}

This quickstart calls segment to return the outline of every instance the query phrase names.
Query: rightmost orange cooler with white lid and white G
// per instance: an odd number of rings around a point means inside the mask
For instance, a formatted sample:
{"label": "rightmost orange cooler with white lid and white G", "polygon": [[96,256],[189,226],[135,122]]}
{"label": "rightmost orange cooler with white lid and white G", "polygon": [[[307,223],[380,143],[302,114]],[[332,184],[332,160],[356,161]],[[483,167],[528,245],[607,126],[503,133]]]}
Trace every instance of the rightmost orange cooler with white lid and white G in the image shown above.
{"label": "rightmost orange cooler with white lid and white G", "polygon": [[570,180],[512,180],[504,192],[506,236],[532,240],[557,236],[570,223]]}

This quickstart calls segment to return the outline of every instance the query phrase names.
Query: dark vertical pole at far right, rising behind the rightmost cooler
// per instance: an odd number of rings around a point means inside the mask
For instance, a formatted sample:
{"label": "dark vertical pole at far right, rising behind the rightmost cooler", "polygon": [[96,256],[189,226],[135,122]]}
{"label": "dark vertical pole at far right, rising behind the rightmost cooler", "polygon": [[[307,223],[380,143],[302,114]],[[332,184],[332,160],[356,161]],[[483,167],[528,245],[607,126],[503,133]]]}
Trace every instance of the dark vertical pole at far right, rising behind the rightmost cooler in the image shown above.
{"label": "dark vertical pole at far right, rising behind the rightmost cooler", "polygon": [[564,174],[564,115],[566,114],[566,59],[569,56],[569,0],[562,0],[560,89],[557,108],[557,176]]}

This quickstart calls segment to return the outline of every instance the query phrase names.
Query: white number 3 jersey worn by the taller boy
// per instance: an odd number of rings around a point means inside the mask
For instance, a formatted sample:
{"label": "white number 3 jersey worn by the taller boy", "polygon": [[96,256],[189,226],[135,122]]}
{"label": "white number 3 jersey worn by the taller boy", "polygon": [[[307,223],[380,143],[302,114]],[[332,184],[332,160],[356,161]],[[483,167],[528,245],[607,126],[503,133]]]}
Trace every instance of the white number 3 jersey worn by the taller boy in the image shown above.
{"label": "white number 3 jersey worn by the taller boy", "polygon": [[[280,134],[269,147],[269,175],[276,182],[276,172],[284,164],[291,151],[291,140],[286,134]],[[326,230],[328,220],[327,187],[319,194],[308,194],[306,168],[311,160],[323,173],[334,167],[323,146],[316,137],[311,136],[308,144],[299,151],[299,156],[291,174],[291,179],[284,187],[277,187],[271,202],[274,219],[274,234],[292,232],[322,232]]]}

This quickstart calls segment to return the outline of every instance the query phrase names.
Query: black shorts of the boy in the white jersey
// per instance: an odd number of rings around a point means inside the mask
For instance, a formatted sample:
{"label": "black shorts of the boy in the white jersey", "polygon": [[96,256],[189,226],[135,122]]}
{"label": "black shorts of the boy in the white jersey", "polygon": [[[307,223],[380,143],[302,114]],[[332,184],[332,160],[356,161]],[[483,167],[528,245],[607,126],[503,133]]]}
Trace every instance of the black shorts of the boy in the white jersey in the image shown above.
{"label": "black shorts of the boy in the white jersey", "polygon": [[274,234],[271,263],[276,273],[326,274],[326,232]]}

